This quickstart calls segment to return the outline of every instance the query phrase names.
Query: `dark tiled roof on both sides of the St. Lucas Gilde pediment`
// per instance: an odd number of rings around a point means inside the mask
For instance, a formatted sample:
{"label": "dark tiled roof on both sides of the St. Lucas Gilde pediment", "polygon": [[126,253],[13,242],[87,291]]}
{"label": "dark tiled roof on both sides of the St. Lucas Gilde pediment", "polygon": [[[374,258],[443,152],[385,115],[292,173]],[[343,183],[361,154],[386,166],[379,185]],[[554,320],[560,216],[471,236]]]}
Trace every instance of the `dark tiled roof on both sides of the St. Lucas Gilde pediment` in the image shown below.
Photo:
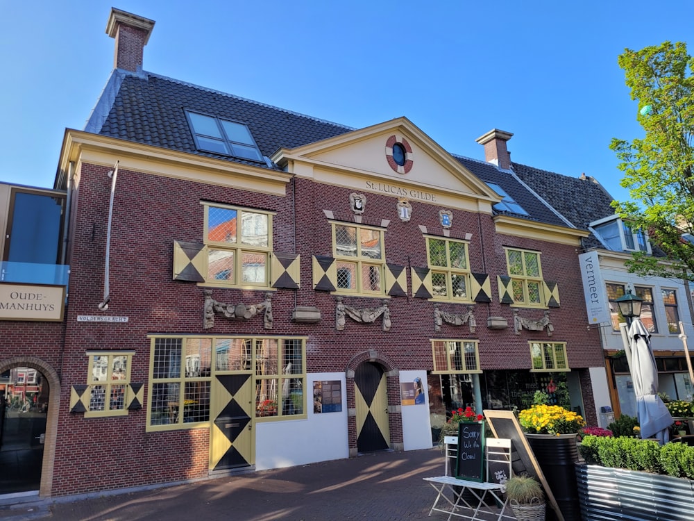
{"label": "dark tiled roof on both sides of the St. Lucas Gilde pediment", "polygon": [[[191,154],[236,161],[260,167],[228,156],[198,151],[195,147],[185,110],[232,119],[248,125],[264,156],[279,148],[294,148],[332,138],[354,129],[323,119],[298,114],[282,108],[233,96],[198,85],[177,81],[149,72],[128,74],[115,71],[112,91],[104,95],[106,104],[87,123],[87,129],[120,138],[151,144]],[[112,97],[112,103],[108,103]],[[102,123],[103,118],[103,123]],[[484,161],[455,156],[455,159],[483,181],[500,185],[530,216],[518,217],[547,222],[558,226],[567,223],[547,205],[537,199],[511,172],[502,171]]]}

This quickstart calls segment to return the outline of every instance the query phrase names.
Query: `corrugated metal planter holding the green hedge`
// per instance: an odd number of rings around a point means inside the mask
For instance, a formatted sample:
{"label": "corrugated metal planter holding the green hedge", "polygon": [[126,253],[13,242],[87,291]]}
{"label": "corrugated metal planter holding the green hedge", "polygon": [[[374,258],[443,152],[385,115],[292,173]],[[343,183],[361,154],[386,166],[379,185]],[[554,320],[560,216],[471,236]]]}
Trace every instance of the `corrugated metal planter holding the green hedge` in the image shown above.
{"label": "corrugated metal planter holding the green hedge", "polygon": [[576,465],[583,521],[694,521],[694,481]]}

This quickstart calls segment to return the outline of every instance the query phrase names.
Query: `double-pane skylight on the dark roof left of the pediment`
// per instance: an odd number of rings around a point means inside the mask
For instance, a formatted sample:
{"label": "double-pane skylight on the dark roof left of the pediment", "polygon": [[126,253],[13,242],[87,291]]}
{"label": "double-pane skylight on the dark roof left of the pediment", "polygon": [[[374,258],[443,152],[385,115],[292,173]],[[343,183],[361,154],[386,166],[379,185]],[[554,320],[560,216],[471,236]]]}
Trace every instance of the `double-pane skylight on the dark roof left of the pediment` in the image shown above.
{"label": "double-pane skylight on the dark roof left of the pediment", "polygon": [[262,154],[248,126],[229,119],[187,112],[198,150],[263,162]]}

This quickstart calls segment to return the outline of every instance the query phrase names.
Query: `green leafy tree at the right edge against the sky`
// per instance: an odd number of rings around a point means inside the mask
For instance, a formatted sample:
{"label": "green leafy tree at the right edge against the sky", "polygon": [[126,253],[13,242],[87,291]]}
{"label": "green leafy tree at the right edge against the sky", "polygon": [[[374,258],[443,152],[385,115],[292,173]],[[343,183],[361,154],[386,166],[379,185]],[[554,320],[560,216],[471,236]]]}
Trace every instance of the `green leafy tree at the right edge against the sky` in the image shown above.
{"label": "green leafy tree at the right edge against the sky", "polygon": [[638,101],[645,137],[610,144],[632,199],[613,206],[632,229],[648,231],[666,256],[663,263],[637,252],[627,266],[642,275],[694,280],[694,244],[682,238],[691,233],[694,240],[694,58],[686,44],[664,42],[625,49],[618,63]]}

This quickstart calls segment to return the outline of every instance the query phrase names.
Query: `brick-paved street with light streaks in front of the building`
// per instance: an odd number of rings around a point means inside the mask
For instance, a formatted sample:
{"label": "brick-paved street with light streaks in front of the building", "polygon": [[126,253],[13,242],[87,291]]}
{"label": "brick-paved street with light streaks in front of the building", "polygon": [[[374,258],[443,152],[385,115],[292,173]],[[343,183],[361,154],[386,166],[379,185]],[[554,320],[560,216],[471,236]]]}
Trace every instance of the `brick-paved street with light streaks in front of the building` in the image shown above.
{"label": "brick-paved street with light streaks in front of the building", "polygon": [[1,521],[423,521],[443,474],[439,449],[378,452],[130,493],[0,504]]}

